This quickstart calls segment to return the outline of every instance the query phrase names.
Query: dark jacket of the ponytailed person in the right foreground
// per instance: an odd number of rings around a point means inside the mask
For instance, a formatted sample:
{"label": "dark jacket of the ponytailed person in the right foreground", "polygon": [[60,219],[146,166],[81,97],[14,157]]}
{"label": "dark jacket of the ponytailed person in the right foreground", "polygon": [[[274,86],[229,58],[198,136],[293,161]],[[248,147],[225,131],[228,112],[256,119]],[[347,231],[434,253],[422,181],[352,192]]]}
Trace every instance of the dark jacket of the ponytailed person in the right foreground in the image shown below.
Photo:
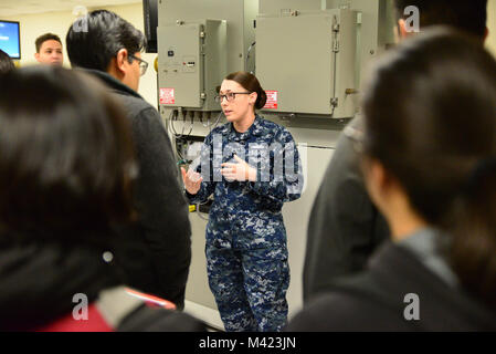
{"label": "dark jacket of the ponytailed person in the right foreground", "polygon": [[[425,268],[409,250],[387,242],[366,272],[328,284],[286,331],[496,331],[496,312]],[[407,321],[419,298],[419,320]]]}

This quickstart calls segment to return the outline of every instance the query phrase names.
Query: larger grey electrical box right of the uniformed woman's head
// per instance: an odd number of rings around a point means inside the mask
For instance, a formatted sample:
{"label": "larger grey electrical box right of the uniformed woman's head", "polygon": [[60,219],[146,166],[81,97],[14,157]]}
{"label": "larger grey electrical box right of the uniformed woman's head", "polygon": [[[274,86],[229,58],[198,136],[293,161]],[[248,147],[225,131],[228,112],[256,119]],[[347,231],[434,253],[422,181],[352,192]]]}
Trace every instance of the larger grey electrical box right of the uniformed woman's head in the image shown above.
{"label": "larger grey electrical box right of the uniformed woman's head", "polygon": [[256,75],[266,112],[349,118],[357,111],[357,12],[333,9],[258,15]]}

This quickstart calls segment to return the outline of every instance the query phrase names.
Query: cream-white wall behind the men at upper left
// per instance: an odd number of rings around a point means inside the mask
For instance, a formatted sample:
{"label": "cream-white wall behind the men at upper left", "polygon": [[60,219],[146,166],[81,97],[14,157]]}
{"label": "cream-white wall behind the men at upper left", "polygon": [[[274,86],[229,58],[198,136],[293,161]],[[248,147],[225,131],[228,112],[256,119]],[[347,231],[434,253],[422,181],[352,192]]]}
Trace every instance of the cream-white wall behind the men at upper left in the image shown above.
{"label": "cream-white wall behind the men at upper left", "polygon": [[[144,30],[141,2],[103,8],[116,12],[118,15],[133,23],[137,29]],[[52,32],[61,38],[64,46],[64,66],[70,67],[71,64],[65,51],[65,35],[74,19],[75,15],[68,11],[24,14],[9,18],[2,17],[2,20],[19,21],[21,24],[21,66],[38,63],[34,59],[34,53],[36,52],[34,41],[39,35]],[[141,94],[141,96],[144,96],[144,98],[152,106],[157,107],[157,73],[154,69],[154,61],[157,54],[144,53],[141,56],[149,63],[149,66],[145,76],[141,77],[139,94]]]}

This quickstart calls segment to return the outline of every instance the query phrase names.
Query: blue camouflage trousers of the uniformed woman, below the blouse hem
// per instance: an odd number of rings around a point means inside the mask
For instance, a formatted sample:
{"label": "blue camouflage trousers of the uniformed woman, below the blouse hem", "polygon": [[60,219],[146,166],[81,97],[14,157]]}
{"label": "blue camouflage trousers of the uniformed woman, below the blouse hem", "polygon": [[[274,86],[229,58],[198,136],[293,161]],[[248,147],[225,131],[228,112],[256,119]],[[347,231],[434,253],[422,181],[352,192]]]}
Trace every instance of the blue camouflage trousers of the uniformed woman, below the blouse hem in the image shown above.
{"label": "blue camouflage trousers of the uniformed woman, below the blouse hem", "polygon": [[209,284],[228,332],[276,332],[287,321],[285,246],[233,250],[207,244]]}

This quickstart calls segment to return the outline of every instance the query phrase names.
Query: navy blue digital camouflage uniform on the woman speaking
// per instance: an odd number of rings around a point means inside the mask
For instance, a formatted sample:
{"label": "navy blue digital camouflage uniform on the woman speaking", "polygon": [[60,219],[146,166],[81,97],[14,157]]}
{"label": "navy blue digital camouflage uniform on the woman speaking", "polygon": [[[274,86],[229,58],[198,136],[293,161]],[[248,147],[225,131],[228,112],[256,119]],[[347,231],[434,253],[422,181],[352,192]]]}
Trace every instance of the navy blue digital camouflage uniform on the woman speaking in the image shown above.
{"label": "navy blue digital camouflage uniform on the woman speaking", "polygon": [[[267,146],[283,148],[258,154]],[[221,176],[221,164],[234,162],[234,154],[256,167],[255,183]],[[275,163],[282,157],[289,163]],[[207,225],[207,270],[224,327],[281,331],[287,321],[289,285],[282,207],[298,199],[303,189],[296,144],[285,127],[256,115],[245,133],[232,123],[214,128],[205,137],[201,160],[196,168],[203,177],[201,189],[187,196],[199,204],[214,195]]]}

